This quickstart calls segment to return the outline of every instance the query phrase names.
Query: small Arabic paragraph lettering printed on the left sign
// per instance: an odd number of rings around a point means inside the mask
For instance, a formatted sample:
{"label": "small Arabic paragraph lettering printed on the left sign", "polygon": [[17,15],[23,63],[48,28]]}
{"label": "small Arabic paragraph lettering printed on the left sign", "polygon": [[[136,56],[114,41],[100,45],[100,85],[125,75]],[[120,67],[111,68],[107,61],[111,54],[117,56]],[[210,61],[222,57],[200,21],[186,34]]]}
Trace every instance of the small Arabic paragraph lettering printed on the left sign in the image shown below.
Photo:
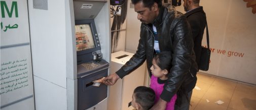
{"label": "small Arabic paragraph lettering printed on the left sign", "polygon": [[27,59],[1,63],[1,95],[28,86]]}

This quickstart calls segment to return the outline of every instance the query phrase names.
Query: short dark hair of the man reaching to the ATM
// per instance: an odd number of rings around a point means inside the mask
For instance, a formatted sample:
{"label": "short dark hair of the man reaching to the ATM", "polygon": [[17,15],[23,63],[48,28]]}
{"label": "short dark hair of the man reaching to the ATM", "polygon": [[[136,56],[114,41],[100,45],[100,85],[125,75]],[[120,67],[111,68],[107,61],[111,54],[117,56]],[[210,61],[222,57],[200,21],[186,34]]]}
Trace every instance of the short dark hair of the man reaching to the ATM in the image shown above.
{"label": "short dark hair of the man reaching to the ATM", "polygon": [[131,0],[132,4],[135,5],[139,2],[142,2],[144,7],[147,7],[151,10],[151,7],[154,3],[158,4],[158,8],[162,7],[162,0]]}

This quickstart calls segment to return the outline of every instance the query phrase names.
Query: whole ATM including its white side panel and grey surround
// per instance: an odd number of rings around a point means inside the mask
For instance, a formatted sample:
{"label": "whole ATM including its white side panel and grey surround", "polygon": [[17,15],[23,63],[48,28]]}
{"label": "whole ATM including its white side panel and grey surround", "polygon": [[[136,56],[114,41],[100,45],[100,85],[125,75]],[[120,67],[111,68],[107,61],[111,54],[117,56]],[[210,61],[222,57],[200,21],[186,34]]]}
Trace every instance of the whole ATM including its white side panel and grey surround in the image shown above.
{"label": "whole ATM including its white side panel and grey surround", "polygon": [[109,71],[109,0],[27,4],[35,109],[106,110],[108,87],[93,81]]}

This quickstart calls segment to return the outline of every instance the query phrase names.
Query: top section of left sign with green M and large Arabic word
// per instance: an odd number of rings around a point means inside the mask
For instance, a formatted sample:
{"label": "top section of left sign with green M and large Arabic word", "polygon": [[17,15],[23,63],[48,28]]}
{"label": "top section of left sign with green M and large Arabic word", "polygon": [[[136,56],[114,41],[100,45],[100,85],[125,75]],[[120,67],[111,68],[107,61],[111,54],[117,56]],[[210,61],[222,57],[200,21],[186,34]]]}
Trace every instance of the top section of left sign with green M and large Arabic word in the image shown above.
{"label": "top section of left sign with green M and large Arabic word", "polygon": [[0,1],[0,3],[1,46],[29,42],[26,1]]}

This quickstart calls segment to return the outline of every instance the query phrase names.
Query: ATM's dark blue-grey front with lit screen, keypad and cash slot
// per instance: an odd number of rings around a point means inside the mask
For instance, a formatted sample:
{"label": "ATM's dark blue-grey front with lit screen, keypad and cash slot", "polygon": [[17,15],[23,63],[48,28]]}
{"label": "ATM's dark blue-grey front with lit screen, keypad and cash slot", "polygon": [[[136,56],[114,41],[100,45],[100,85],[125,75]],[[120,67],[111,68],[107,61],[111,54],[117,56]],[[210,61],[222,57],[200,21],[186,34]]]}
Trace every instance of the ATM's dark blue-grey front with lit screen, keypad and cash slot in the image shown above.
{"label": "ATM's dark blue-grey front with lit screen, keypad and cash slot", "polygon": [[102,59],[93,19],[76,20],[78,109],[87,109],[107,97],[107,86],[93,81],[108,75],[108,63]]}

